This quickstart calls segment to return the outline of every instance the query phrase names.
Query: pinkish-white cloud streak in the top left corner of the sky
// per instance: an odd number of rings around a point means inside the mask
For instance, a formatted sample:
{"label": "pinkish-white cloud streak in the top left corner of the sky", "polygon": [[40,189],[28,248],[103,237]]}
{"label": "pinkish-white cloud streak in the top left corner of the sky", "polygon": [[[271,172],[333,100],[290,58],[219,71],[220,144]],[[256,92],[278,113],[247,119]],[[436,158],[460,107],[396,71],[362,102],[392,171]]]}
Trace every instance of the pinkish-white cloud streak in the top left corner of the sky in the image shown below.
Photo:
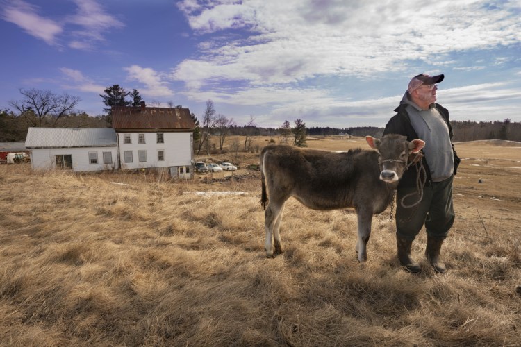
{"label": "pinkish-white cloud streak in the top left corner of the sky", "polygon": [[38,15],[36,6],[21,0],[1,3],[4,5],[1,17],[7,22],[16,24],[26,33],[44,40],[47,44],[57,45],[57,36],[63,32],[63,28],[52,19]]}

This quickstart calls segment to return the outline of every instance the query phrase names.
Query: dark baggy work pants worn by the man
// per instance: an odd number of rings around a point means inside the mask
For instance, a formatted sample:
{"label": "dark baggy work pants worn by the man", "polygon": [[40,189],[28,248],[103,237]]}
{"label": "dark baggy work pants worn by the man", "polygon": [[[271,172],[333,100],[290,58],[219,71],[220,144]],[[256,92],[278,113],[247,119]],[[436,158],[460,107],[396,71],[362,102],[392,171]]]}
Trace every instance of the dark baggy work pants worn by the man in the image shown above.
{"label": "dark baggy work pants worn by the man", "polygon": [[[412,207],[402,207],[402,197],[415,188],[398,189],[396,208],[396,233],[404,239],[415,239],[425,223],[427,235],[445,239],[454,223],[454,208],[452,207],[452,181],[454,176],[441,182],[423,187],[422,201]],[[405,205],[412,205],[419,196],[414,194],[405,199]]]}

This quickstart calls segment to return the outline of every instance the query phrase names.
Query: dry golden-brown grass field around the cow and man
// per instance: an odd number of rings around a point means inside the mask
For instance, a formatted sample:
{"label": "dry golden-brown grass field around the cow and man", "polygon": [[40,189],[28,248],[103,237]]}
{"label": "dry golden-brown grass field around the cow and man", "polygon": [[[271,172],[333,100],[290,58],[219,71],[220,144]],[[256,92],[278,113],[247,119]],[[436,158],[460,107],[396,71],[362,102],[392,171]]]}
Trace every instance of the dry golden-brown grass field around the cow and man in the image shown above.
{"label": "dry golden-brown grass field around the cow and man", "polygon": [[521,144],[456,149],[448,271],[431,270],[422,231],[417,276],[399,268],[389,210],[359,264],[352,210],[293,199],[286,253],[267,259],[255,153],[233,176],[181,181],[3,165],[0,345],[520,346]]}

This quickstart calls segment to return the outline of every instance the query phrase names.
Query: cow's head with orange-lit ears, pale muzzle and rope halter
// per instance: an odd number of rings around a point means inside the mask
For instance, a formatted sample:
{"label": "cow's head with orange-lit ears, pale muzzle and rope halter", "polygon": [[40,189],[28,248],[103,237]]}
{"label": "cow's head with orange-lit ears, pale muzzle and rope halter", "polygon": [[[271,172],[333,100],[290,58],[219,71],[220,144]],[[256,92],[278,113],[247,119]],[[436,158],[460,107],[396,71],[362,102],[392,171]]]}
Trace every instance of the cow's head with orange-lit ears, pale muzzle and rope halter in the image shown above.
{"label": "cow's head with orange-lit ears, pale muzzle and rope halter", "polygon": [[425,146],[421,139],[408,142],[407,137],[388,134],[381,139],[366,136],[365,141],[380,153],[380,179],[387,183],[398,182],[407,168],[410,153],[418,153]]}

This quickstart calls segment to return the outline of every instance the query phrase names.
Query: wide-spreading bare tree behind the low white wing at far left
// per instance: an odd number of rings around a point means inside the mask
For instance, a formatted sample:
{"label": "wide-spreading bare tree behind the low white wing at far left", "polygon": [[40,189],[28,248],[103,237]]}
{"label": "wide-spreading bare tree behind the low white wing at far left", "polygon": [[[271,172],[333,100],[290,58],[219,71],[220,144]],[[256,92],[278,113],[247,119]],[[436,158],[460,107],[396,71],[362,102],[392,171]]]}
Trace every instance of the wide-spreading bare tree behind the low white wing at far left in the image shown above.
{"label": "wide-spreading bare tree behind the low white wing at far left", "polygon": [[[9,105],[16,108],[20,115],[24,115],[31,126],[42,126],[42,121],[46,118],[49,118],[52,125],[56,125],[60,117],[73,112],[81,101],[78,96],[67,93],[56,95],[50,90],[35,88],[20,89],[20,94],[24,98],[19,101],[9,101]],[[35,117],[29,117],[31,115]]]}

